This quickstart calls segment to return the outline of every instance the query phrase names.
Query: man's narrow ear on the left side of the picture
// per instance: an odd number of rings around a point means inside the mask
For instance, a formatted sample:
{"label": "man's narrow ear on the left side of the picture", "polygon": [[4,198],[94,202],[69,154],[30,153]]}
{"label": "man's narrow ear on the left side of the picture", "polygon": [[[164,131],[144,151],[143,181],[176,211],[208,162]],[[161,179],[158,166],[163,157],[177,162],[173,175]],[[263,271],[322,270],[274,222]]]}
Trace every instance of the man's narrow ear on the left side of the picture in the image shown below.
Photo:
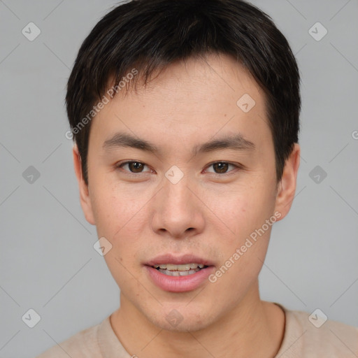
{"label": "man's narrow ear on the left side of the picture", "polygon": [[80,189],[80,203],[82,206],[82,210],[85,214],[87,222],[90,222],[90,224],[95,225],[90,192],[88,189],[88,185],[85,183],[85,180],[83,180],[81,157],[76,144],[73,145],[72,154],[73,165],[75,167],[75,173],[78,180],[78,187]]}

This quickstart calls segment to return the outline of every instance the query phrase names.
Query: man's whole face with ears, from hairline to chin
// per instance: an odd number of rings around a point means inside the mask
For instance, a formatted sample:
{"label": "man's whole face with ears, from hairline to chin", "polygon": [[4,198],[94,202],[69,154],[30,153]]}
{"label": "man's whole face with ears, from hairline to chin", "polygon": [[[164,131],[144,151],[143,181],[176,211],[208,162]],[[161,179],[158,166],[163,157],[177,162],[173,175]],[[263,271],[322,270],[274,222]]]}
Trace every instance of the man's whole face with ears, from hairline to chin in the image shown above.
{"label": "man's whole face with ears, from hairline to chin", "polygon": [[299,147],[277,185],[264,93],[233,59],[173,64],[117,94],[92,120],[88,187],[74,153],[121,309],[194,331],[255,296],[272,224],[294,196]]}

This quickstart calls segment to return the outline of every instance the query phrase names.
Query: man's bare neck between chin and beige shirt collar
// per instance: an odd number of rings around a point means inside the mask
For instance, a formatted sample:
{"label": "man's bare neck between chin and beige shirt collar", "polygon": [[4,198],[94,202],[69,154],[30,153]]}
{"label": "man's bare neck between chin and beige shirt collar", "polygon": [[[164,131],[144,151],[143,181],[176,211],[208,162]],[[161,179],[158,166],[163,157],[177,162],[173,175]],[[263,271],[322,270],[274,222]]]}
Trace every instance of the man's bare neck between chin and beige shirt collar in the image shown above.
{"label": "man's bare neck between chin and beige shirt collar", "polygon": [[273,358],[282,343],[285,314],[259,299],[256,281],[233,310],[199,331],[156,327],[122,293],[110,322],[124,349],[141,358]]}

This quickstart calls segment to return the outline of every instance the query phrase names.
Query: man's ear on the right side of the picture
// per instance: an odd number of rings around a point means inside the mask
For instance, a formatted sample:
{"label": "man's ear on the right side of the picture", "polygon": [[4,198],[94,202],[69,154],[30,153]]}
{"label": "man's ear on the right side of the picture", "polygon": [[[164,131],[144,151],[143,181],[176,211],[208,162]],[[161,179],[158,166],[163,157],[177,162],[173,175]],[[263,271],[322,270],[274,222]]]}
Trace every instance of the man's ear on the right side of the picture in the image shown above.
{"label": "man's ear on the right side of the picture", "polygon": [[[281,213],[279,220],[282,220],[289,212],[296,192],[297,173],[299,171],[301,148],[298,143],[294,144],[289,157],[286,159],[282,178],[278,183],[278,192],[276,194],[275,212]],[[278,221],[279,221],[278,220]]]}

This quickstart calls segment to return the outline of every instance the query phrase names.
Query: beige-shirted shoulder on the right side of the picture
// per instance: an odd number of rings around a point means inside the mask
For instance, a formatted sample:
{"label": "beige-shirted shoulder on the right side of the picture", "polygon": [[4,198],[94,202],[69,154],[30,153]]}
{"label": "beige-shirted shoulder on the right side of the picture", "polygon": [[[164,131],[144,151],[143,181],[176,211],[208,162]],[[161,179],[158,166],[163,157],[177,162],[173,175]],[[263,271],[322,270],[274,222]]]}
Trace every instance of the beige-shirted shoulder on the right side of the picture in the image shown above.
{"label": "beige-shirted shoulder on the right side of the picture", "polygon": [[358,357],[358,328],[329,320],[321,310],[285,310],[285,336],[277,357]]}

